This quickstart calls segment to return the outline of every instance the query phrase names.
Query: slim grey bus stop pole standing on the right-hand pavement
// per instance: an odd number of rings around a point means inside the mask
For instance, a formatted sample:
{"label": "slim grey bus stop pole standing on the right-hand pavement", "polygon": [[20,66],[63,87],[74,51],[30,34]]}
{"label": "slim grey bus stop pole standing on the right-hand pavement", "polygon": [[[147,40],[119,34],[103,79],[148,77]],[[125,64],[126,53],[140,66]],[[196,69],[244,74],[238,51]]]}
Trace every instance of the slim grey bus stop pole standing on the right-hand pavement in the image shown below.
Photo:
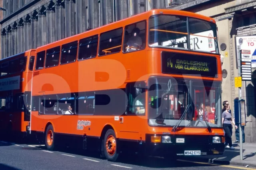
{"label": "slim grey bus stop pole standing on the right-hand pavement", "polygon": [[[242,69],[242,50],[239,51],[238,55],[238,76],[241,75],[241,69]],[[240,160],[243,160],[243,140],[242,140],[242,122],[241,122],[241,106],[240,106],[240,100],[241,100],[241,87],[238,88],[238,98],[239,98],[239,142],[240,142]]]}

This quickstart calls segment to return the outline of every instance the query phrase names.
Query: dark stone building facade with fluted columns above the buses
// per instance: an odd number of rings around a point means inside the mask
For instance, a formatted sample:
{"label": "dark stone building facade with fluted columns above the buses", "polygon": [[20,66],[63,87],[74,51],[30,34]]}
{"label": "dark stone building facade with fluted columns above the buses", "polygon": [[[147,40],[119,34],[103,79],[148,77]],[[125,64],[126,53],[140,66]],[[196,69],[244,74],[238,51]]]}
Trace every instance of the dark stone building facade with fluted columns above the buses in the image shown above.
{"label": "dark stone building facade with fluted columns above the buses", "polygon": [[5,58],[150,9],[166,8],[174,0],[2,1],[6,11],[0,21],[1,56]]}

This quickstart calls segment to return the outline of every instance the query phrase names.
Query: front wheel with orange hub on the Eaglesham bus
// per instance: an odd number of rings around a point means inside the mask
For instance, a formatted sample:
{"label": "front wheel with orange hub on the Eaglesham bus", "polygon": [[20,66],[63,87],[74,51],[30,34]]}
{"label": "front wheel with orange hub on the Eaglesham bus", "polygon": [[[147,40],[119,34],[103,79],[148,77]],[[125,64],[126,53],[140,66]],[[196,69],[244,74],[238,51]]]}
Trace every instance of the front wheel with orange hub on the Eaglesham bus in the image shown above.
{"label": "front wheel with orange hub on the Eaglesham bus", "polygon": [[108,129],[104,137],[104,154],[107,160],[115,162],[118,158],[116,134],[113,129]]}

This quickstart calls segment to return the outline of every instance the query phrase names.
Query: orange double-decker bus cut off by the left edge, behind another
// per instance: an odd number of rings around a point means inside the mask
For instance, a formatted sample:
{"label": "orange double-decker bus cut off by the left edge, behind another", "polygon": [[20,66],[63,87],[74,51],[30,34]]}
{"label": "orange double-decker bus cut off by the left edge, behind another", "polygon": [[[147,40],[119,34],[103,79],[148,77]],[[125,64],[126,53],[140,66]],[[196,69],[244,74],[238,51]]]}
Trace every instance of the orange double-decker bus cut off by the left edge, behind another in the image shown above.
{"label": "orange double-decker bus cut off by the left edge, behind another", "polygon": [[35,53],[36,49],[31,49],[0,60],[2,137],[24,137],[30,130],[31,78]]}

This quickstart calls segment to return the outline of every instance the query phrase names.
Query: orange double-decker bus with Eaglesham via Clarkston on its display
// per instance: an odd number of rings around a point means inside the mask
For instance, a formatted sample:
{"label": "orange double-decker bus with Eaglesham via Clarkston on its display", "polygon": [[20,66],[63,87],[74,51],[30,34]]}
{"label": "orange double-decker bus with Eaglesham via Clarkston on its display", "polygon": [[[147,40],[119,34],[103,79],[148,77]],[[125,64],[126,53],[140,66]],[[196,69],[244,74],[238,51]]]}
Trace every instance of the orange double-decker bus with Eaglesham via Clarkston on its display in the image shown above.
{"label": "orange double-decker bus with Eaglesham via Clarkston on its display", "polygon": [[150,10],[36,49],[31,133],[115,161],[223,154],[216,23]]}

